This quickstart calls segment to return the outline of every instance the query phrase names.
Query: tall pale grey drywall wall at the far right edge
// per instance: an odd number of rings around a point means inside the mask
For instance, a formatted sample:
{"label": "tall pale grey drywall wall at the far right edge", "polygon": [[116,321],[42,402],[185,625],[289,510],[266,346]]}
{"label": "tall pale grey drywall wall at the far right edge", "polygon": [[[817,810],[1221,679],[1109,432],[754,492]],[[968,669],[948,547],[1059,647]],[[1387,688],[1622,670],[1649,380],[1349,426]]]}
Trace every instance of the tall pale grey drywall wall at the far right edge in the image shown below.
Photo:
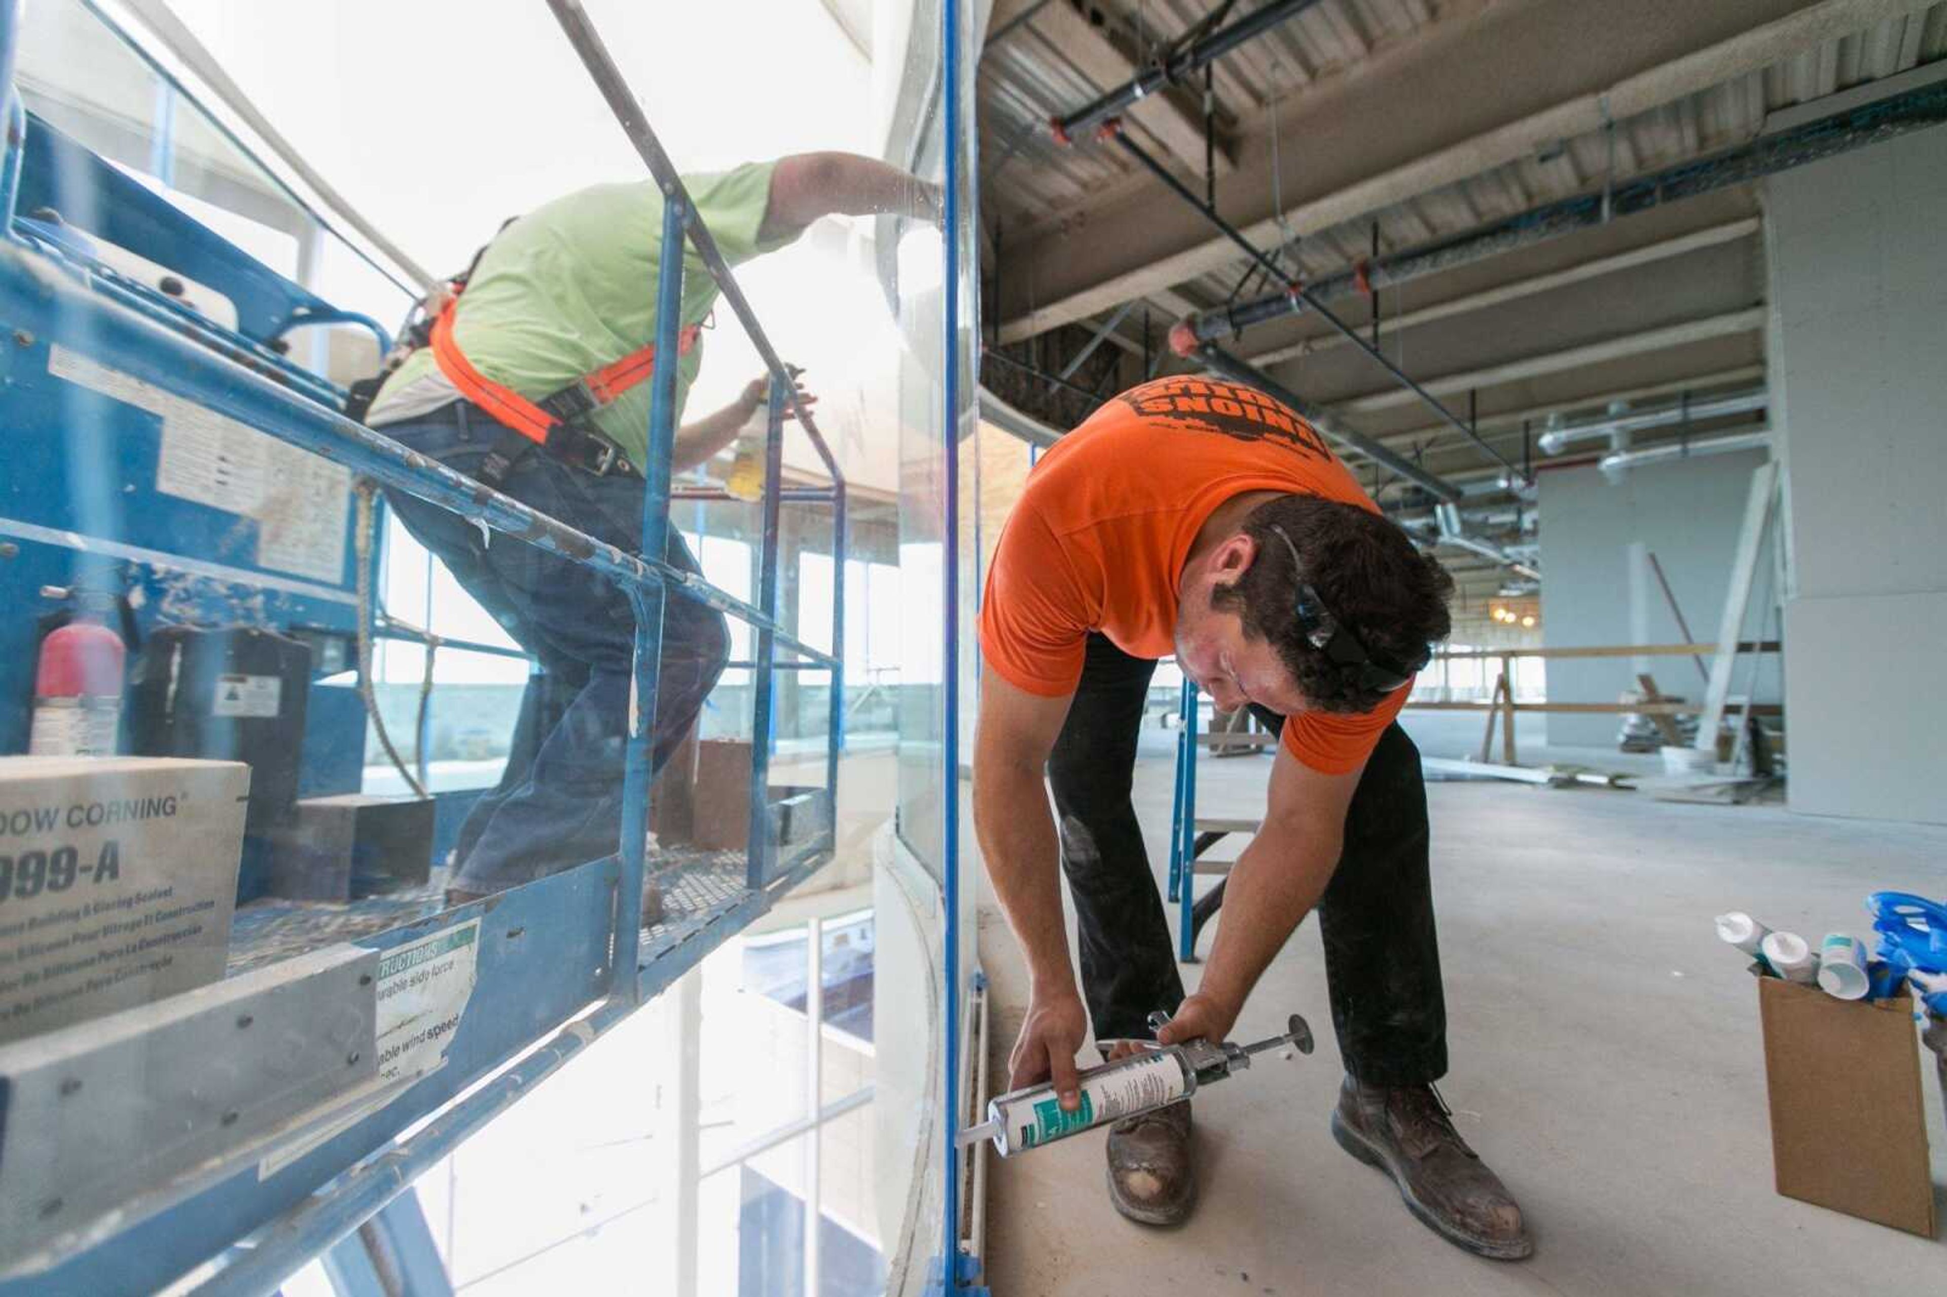
{"label": "tall pale grey drywall wall at the far right edge", "polygon": [[1791,806],[1947,822],[1947,130],[1766,181]]}

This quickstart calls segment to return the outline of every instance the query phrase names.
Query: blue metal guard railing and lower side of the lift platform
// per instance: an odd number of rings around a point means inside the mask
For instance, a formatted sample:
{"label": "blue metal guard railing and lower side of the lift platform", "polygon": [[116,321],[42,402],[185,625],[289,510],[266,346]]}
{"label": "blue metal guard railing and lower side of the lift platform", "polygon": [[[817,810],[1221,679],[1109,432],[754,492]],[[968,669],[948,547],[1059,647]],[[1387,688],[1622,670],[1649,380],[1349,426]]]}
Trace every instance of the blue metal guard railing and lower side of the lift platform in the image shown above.
{"label": "blue metal guard railing and lower side of the lift platform", "polygon": [[[600,541],[347,419],[339,405],[343,393],[286,362],[265,345],[267,339],[195,317],[162,294],[119,280],[103,267],[19,228],[14,203],[31,127],[14,86],[19,2],[0,2],[0,103],[10,109],[0,167],[0,319],[8,329],[58,343],[387,489],[411,493],[481,528],[602,573],[629,596],[637,621],[635,705],[615,857],[360,937],[354,945],[267,964],[187,991],[167,1001],[173,1011],[154,1015],[132,1044],[127,1034],[68,1032],[60,1057],[41,1059],[39,1071],[12,1071],[21,1056],[6,1054],[8,1061],[0,1063],[10,1093],[4,1151],[14,1155],[16,1141],[31,1139],[49,1157],[0,1159],[23,1176],[14,1180],[0,1170],[10,1200],[0,1204],[0,1295],[154,1291],[212,1262],[218,1268],[197,1293],[273,1291],[829,859],[843,728],[837,654],[845,645],[845,477],[586,14],[565,0],[551,0],[551,8],[664,195],[639,553]],[[734,598],[654,557],[664,553],[674,495],[676,333],[685,241],[748,329],[771,376],[755,600]],[[783,487],[787,405],[829,483]],[[779,621],[779,506],[785,500],[831,508],[829,650],[804,643]],[[715,608],[755,631],[748,662],[755,668],[750,826],[742,869],[722,863],[701,869],[687,880],[695,904],[676,919],[644,929],[650,726],[662,610],[670,596]],[[424,639],[422,631],[403,623],[387,623],[382,633]],[[831,682],[824,785],[831,804],[818,816],[806,816],[812,830],[792,832],[789,839],[777,834],[765,798],[771,756],[765,734],[777,670],[822,670]],[[444,1065],[430,1073],[386,1087],[374,1071],[376,1059],[360,1057],[352,1048],[339,1085],[323,1102],[302,1110],[263,1106],[261,1120],[218,1124],[208,1114],[208,1130],[199,1124],[201,1118],[156,1112],[142,1126],[148,1133],[140,1145],[121,1149],[113,1165],[68,1155],[68,1149],[93,1147],[86,1139],[74,1137],[64,1147],[64,1139],[76,1133],[68,1124],[86,1120],[90,1102],[113,1102],[113,1094],[97,1098],[93,1091],[76,1087],[90,1098],[70,1104],[72,1116],[58,1116],[33,1131],[14,1120],[23,1104],[33,1110],[35,1087],[55,1085],[62,1069],[86,1071],[117,1057],[127,1061],[127,1054],[117,1056],[117,1050],[134,1048],[148,1052],[144,1057],[171,1057],[177,1067],[208,1069],[216,1089],[238,1087],[255,1073],[269,1075],[278,1063],[275,1056],[241,1046],[232,1054],[199,1052],[193,1048],[201,1040],[197,1032],[206,1032],[218,1017],[263,1026],[290,1022],[294,1032],[335,1020],[333,1015],[343,1019],[347,985],[358,987],[354,997],[370,1001],[374,970],[387,952],[458,931],[465,931],[479,950],[471,997],[493,1011],[465,1015],[452,1034]],[[356,1036],[360,1024],[352,1022],[349,1030]],[[275,1042],[276,1034],[259,1030],[255,1038]],[[372,1040],[370,1003],[362,1007],[362,1040]],[[364,1048],[370,1050],[370,1044]],[[228,1079],[216,1079],[218,1071]],[[195,1077],[179,1081],[171,1089],[195,1091]],[[64,1096],[72,1093],[60,1091]],[[138,1096],[125,1093],[119,1098],[134,1104]]]}

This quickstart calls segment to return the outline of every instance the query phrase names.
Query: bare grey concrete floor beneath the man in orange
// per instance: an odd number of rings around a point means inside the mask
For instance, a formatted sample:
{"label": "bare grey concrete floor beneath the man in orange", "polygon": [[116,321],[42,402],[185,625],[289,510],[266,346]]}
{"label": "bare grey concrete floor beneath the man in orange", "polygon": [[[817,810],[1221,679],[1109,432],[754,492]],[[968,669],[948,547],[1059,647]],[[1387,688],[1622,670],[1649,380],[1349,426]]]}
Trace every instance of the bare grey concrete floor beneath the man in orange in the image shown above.
{"label": "bare grey concrete floor beneath the man in orange", "polygon": [[[1458,744],[1458,756],[1480,742],[1468,728],[1429,726],[1421,746]],[[1147,734],[1137,810],[1160,878],[1170,744]],[[1256,814],[1267,769],[1264,758],[1205,761],[1199,810]],[[1462,1135],[1523,1202],[1536,1254],[1501,1264],[1460,1252],[1404,1211],[1390,1180],[1332,1143],[1340,1059],[1306,923],[1238,1036],[1269,1034],[1299,1011],[1320,1032],[1318,1052],[1197,1098],[1192,1221],[1153,1231],[1118,1217],[1102,1188],[1102,1135],[995,1159],[985,1256],[999,1297],[1943,1291],[1947,1244],[1772,1192],[1756,993],[1709,919],[1745,908],[1801,933],[1863,931],[1871,890],[1947,894],[1947,830],[1598,789],[1427,793],[1452,1054],[1441,1089]],[[1024,983],[991,911],[981,958],[1005,1077]],[[1186,968],[1186,982],[1195,976]],[[1947,1221],[1947,1131],[1924,1057]]]}

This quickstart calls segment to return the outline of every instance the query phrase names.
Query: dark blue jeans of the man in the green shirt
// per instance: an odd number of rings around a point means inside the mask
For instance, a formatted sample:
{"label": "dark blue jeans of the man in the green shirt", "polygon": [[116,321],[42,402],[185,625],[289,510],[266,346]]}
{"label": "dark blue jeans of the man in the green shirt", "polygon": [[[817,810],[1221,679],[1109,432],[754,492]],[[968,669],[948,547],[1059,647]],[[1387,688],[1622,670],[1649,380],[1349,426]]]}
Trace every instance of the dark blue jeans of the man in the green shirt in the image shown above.
{"label": "dark blue jeans of the man in the green shirt", "polygon": [[[502,428],[479,407],[456,401],[380,432],[471,475]],[[639,477],[596,477],[539,448],[500,483],[530,508],[631,553],[643,545],[643,489]],[[498,892],[615,855],[635,662],[629,598],[594,569],[512,536],[489,537],[438,504],[393,491],[386,499],[405,530],[541,668],[528,678],[500,783],[459,830],[452,886]],[[664,557],[699,571],[674,530]],[[680,596],[664,600],[652,769],[681,744],[728,656],[720,611]]]}

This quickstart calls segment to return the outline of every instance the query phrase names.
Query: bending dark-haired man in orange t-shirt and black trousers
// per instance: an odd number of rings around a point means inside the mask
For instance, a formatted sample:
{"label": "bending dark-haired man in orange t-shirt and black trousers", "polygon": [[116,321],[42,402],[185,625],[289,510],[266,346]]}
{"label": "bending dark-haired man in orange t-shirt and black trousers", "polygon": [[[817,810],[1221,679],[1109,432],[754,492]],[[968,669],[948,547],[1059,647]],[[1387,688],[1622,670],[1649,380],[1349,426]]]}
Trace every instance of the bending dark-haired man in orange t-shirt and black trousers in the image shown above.
{"label": "bending dark-haired man in orange t-shirt and black trousers", "polygon": [[[1316,908],[1347,1069],[1334,1137],[1392,1174],[1412,1213],[1452,1242],[1519,1258],[1530,1252],[1521,1207],[1433,1089],[1447,1009],[1425,785],[1394,723],[1447,637],[1451,592],[1291,409],[1201,378],[1133,388],[1042,458],[1001,532],[979,623],[974,824],[1030,974],[1012,1085],[1051,1077],[1073,1106],[1090,1019],[1098,1042],[1141,1040],[1149,1013],[1168,1009],[1164,1044],[1223,1040]],[[1264,826],[1231,869],[1188,999],[1129,802],[1149,678],[1166,654],[1217,707],[1283,726]],[[1036,812],[1047,787],[1055,816]],[[1190,1147],[1188,1100],[1118,1122],[1116,1209],[1182,1221],[1195,1198]]]}

